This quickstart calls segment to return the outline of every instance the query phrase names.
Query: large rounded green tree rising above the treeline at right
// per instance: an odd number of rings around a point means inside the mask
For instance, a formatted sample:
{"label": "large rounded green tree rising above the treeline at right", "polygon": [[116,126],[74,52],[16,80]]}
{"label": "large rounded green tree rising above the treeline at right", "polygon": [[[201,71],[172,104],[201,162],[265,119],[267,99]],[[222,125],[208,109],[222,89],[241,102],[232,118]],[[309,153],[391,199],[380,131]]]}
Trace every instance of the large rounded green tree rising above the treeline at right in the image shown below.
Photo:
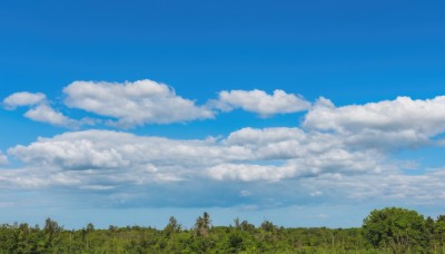
{"label": "large rounded green tree rising above the treeline at right", "polygon": [[364,235],[375,247],[390,247],[400,253],[425,248],[425,219],[415,211],[390,207],[374,209],[364,219]]}

